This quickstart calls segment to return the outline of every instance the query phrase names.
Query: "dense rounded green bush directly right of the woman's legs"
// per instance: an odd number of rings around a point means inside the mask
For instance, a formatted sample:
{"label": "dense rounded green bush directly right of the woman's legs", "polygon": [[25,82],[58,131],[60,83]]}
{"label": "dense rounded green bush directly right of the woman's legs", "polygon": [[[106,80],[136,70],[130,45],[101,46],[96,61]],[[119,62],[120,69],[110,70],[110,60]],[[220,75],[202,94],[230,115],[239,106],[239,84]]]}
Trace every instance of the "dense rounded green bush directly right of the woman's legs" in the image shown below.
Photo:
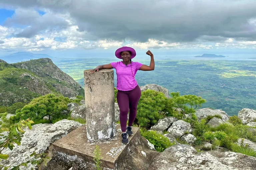
{"label": "dense rounded green bush directly right of the woman's legs", "polygon": [[161,92],[143,91],[137,107],[137,123],[145,128],[154,126],[166,115],[167,101],[168,99]]}

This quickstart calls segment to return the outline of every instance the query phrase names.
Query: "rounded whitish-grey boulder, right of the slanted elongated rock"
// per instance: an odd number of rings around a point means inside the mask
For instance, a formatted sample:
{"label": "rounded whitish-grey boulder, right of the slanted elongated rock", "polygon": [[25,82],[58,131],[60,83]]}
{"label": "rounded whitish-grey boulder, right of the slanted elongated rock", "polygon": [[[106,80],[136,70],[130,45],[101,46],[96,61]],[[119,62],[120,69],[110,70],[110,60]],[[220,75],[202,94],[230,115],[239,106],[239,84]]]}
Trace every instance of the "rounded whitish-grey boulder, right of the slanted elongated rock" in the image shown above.
{"label": "rounded whitish-grey boulder, right of the slanted elongated rock", "polygon": [[168,132],[171,133],[174,137],[181,137],[185,132],[191,132],[191,125],[185,121],[178,120],[172,124],[168,129]]}

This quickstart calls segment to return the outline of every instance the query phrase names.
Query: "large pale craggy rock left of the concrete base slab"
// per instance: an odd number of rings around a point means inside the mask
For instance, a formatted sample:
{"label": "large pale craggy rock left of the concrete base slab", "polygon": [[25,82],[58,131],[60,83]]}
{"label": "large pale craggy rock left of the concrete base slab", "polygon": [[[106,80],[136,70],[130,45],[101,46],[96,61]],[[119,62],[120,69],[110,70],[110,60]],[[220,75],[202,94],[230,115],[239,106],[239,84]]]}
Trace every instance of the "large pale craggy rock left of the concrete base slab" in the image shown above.
{"label": "large pale craggy rock left of the concrete base slab", "polygon": [[[9,154],[7,160],[3,160],[1,164],[4,166],[15,166],[25,162],[27,157],[34,151],[36,153],[43,153],[54,141],[66,136],[70,131],[80,127],[82,124],[61,120],[55,124],[37,124],[33,125],[32,129],[24,128],[25,133],[21,140],[21,145],[15,146],[13,150],[9,148],[4,149],[2,154]],[[25,169],[36,168],[35,165],[28,164]]]}

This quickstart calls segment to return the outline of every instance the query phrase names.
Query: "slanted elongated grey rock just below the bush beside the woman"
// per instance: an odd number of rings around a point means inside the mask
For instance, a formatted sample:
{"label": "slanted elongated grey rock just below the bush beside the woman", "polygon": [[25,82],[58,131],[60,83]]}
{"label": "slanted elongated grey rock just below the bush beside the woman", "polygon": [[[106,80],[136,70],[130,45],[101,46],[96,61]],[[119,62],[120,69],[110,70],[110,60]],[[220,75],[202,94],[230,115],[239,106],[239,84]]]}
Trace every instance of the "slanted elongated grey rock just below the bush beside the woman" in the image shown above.
{"label": "slanted elongated grey rock just below the bush beside the woman", "polygon": [[156,131],[164,131],[167,130],[177,119],[174,117],[166,117],[164,119],[160,119],[154,126],[152,126],[151,130]]}

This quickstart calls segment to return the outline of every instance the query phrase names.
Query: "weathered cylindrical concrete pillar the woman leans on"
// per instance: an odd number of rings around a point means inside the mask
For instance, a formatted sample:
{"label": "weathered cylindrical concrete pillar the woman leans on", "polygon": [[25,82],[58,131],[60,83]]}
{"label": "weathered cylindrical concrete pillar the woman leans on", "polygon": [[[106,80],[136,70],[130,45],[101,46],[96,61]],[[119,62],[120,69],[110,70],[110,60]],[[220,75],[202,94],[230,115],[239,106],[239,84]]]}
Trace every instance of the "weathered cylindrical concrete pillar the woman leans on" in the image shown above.
{"label": "weathered cylindrical concrete pillar the woman leans on", "polygon": [[[90,69],[91,70],[91,69]],[[84,70],[87,138],[104,141],[115,136],[114,72]]]}

